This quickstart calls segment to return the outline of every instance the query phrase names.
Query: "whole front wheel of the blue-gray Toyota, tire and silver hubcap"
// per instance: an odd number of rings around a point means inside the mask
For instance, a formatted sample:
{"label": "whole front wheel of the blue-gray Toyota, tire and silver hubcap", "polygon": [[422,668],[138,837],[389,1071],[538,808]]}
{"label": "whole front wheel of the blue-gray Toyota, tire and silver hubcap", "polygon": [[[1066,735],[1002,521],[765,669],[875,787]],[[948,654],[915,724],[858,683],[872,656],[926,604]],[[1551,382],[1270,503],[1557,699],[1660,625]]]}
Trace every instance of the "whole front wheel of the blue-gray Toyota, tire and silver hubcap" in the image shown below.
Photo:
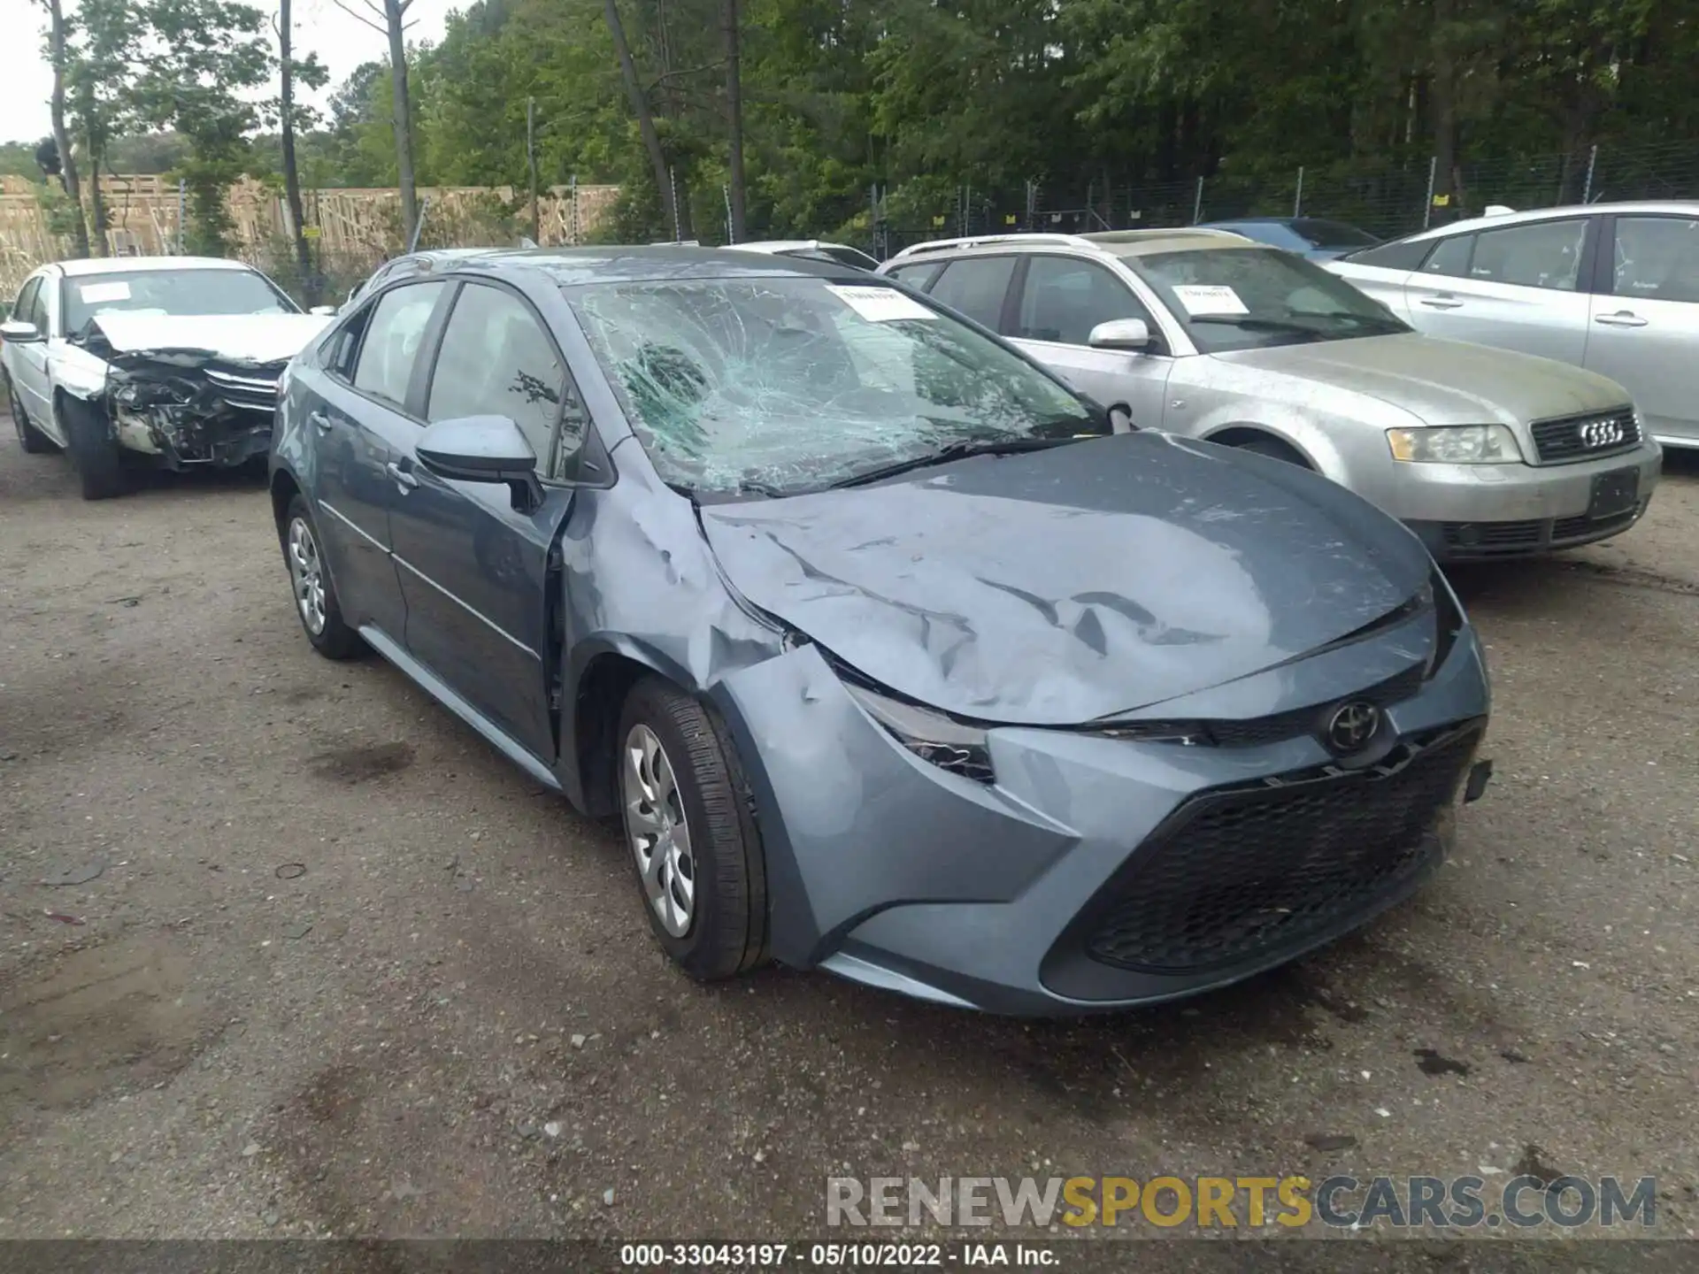
{"label": "whole front wheel of the blue-gray Toyota, tire and silver hubcap", "polygon": [[712,982],[766,961],[766,861],[742,768],[708,710],[661,678],[618,727],[625,844],[668,956]]}

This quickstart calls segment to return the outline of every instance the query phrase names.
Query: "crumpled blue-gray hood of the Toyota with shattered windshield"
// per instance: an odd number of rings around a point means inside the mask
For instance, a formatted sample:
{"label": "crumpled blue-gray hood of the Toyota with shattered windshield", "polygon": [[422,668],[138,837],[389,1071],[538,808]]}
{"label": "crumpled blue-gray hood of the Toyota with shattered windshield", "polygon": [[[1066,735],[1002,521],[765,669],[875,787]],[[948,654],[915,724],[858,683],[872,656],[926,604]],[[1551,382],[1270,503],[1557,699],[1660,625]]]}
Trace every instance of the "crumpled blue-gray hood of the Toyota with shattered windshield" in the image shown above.
{"label": "crumpled blue-gray hood of the Toyota with shattered windshield", "polygon": [[710,505],[727,579],[873,681],[1075,725],[1257,673],[1403,605],[1429,557],[1296,465],[1159,433]]}

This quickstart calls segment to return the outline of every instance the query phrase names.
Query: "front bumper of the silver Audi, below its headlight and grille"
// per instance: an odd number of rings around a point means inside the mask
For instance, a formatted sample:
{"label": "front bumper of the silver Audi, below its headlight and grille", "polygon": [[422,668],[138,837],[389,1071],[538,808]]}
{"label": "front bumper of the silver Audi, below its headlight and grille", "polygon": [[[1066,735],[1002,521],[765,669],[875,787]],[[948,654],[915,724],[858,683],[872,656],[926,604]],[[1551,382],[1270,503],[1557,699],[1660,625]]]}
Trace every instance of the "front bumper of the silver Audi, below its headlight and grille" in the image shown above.
{"label": "front bumper of the silver Audi, below its headlight and grille", "polygon": [[[1395,464],[1378,501],[1439,561],[1572,549],[1633,527],[1651,503],[1663,448],[1646,440],[1580,464]],[[1595,479],[1633,471],[1636,499],[1594,516]]]}

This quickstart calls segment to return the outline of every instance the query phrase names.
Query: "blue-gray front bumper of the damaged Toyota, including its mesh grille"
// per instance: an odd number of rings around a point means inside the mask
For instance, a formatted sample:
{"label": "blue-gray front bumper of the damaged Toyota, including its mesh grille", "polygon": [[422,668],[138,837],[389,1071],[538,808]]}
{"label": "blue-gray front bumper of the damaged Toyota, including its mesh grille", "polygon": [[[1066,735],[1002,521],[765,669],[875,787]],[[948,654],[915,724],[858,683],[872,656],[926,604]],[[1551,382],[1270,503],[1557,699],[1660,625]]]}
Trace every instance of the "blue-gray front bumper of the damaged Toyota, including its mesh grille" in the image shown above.
{"label": "blue-gray front bumper of the damaged Toyota, including its mesh grille", "polygon": [[[1267,719],[1383,685],[1432,615],[1199,691],[1164,717]],[[1402,661],[1402,662],[1400,662]],[[904,749],[814,647],[715,691],[749,776],[773,955],[958,1007],[1069,1016],[1227,985],[1364,924],[1444,860],[1488,712],[1473,630],[1342,769],[1257,746],[989,734],[994,785]],[[1237,710],[1235,710],[1237,705]]]}

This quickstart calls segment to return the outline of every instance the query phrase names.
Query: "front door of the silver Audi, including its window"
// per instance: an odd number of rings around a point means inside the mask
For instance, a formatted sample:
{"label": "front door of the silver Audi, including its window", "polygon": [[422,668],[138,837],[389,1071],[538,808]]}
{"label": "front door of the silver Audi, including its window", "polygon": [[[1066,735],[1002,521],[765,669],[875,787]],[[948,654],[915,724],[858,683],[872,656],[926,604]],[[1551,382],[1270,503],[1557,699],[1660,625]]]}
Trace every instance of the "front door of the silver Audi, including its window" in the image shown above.
{"label": "front door of the silver Audi, including its window", "polygon": [[[1077,256],[1031,255],[1024,267],[1008,336],[1082,394],[1106,408],[1125,406],[1135,426],[1162,428],[1174,360],[1162,328],[1132,287],[1108,267]],[[1091,348],[1091,330],[1111,319],[1143,319],[1150,348]]]}

